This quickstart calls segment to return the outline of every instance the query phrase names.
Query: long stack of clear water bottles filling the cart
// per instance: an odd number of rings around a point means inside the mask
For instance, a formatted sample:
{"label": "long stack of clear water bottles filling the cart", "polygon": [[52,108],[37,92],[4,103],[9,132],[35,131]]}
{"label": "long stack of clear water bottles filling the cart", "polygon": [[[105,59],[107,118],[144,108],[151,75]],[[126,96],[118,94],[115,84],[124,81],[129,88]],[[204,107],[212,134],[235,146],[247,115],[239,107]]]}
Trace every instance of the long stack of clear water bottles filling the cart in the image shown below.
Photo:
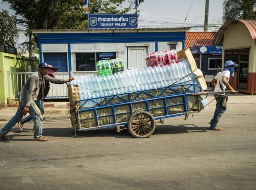
{"label": "long stack of clear water bottles filling the cart", "polygon": [[[80,100],[123,94],[177,84],[198,83],[187,58],[170,65],[136,68],[112,75],[92,75],[76,78],[70,85],[78,85]],[[100,99],[98,99],[100,101]],[[83,102],[81,102],[82,104]],[[86,107],[95,103],[89,101]]]}

